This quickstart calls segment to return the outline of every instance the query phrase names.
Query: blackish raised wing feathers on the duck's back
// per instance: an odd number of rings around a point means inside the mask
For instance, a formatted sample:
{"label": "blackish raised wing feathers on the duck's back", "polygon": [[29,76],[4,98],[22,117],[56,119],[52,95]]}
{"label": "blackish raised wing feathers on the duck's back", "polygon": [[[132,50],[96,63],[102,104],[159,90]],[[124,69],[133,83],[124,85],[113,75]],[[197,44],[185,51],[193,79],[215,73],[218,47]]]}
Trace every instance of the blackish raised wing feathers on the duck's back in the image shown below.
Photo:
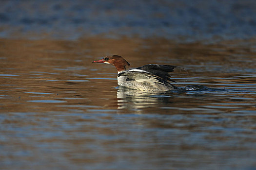
{"label": "blackish raised wing feathers on the duck's back", "polygon": [[174,80],[170,79],[170,74],[168,74],[168,72],[174,71],[173,70],[174,68],[177,68],[177,66],[149,64],[149,65],[138,67],[137,69],[142,69],[147,72],[150,72],[151,74],[157,75],[163,78],[164,80],[175,82]]}

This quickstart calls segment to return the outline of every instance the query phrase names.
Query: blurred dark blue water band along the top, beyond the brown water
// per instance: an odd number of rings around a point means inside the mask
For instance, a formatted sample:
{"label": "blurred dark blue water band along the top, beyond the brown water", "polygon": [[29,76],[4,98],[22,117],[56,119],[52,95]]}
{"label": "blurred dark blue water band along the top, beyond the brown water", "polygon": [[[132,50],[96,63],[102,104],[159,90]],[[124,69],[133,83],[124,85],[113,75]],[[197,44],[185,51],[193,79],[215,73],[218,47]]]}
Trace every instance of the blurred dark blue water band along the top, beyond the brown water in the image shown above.
{"label": "blurred dark blue water band along the top, beyond the brown water", "polygon": [[255,0],[4,0],[0,37],[240,39],[256,35],[255,16]]}

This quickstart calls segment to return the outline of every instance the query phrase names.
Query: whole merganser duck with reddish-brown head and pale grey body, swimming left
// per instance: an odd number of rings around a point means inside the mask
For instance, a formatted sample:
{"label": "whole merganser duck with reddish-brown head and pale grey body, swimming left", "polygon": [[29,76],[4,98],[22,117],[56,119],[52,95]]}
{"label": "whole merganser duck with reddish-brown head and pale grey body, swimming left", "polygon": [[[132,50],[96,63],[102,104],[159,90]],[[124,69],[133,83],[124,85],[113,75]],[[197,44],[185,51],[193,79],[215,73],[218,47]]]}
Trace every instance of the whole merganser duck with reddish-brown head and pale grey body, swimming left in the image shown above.
{"label": "whole merganser duck with reddish-brown head and pale grey body, swimming left", "polygon": [[93,63],[106,63],[115,66],[118,70],[118,85],[130,89],[141,91],[169,91],[177,89],[176,86],[168,81],[170,79],[168,72],[174,71],[176,66],[149,64],[134,69],[126,70],[130,64],[119,55],[109,55],[102,60],[93,61]]}

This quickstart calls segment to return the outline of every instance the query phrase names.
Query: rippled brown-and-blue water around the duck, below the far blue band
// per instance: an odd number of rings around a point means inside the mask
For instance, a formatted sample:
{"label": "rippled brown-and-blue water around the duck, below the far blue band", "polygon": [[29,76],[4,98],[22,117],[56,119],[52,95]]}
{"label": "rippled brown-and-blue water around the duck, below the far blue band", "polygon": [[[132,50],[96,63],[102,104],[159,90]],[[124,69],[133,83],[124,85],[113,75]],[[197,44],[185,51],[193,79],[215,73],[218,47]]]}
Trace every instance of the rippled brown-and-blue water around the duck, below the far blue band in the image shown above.
{"label": "rippled brown-and-blue water around the duck, below the far blue band", "polygon": [[[212,89],[118,89],[115,68],[92,63],[108,54]],[[0,168],[254,169],[255,56],[254,40],[0,39]]]}

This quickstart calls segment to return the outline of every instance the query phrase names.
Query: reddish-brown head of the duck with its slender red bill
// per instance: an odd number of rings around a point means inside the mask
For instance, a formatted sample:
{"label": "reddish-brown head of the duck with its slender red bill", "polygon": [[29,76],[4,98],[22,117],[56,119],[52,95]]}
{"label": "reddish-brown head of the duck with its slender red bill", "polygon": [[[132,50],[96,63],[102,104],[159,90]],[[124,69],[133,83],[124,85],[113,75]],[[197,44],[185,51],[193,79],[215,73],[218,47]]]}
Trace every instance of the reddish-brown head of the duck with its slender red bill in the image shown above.
{"label": "reddish-brown head of the duck with its slender red bill", "polygon": [[117,68],[118,72],[126,70],[125,66],[130,66],[130,64],[119,55],[108,55],[102,60],[93,61],[93,63],[112,64]]}

